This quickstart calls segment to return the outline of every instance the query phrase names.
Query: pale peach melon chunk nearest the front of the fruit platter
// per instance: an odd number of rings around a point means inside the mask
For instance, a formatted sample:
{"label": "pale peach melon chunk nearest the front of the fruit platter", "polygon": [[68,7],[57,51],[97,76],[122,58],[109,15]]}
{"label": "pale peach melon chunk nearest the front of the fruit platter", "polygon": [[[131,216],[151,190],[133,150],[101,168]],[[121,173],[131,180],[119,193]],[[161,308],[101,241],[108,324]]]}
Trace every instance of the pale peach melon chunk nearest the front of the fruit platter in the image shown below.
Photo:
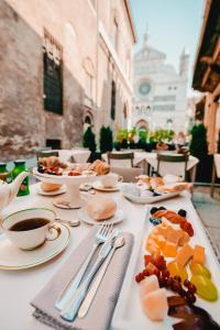
{"label": "pale peach melon chunk nearest the front of the fruit platter", "polygon": [[143,311],[152,321],[163,321],[165,319],[168,311],[165,288],[148,293],[141,302]]}

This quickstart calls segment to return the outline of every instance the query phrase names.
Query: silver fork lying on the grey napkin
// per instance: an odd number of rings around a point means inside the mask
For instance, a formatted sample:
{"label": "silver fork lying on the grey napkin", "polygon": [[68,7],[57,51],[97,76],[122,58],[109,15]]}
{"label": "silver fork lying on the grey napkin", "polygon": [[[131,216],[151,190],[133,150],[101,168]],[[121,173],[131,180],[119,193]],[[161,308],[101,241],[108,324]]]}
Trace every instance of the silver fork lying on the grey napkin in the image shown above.
{"label": "silver fork lying on the grey napkin", "polygon": [[74,295],[74,293],[76,292],[76,289],[78,288],[87,268],[88,265],[91,261],[91,257],[94,255],[94,253],[96,252],[97,248],[99,246],[99,244],[105,243],[109,237],[109,234],[112,231],[112,224],[109,223],[103,223],[102,226],[100,226],[98,232],[95,235],[95,242],[94,245],[91,248],[91,251],[89,252],[89,254],[87,255],[86,260],[84,261],[82,265],[80,266],[78,273],[76,274],[75,278],[72,278],[70,282],[66,285],[66,287],[64,288],[62,295],[59,296],[59,298],[57,299],[55,307],[58,310],[64,309],[64,307],[66,306],[66,304],[69,301],[69,298]]}

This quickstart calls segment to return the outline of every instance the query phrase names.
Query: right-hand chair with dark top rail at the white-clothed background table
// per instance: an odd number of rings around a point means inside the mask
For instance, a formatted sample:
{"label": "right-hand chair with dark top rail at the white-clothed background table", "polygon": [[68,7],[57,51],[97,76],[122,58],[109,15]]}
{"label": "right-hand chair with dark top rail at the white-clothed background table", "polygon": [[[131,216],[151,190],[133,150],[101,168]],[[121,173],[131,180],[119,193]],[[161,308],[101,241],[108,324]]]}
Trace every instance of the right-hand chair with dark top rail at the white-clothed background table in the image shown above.
{"label": "right-hand chair with dark top rail at the white-clothed background table", "polygon": [[[187,174],[187,163],[188,163],[188,155],[167,155],[167,154],[157,154],[157,168],[156,173],[157,175],[165,175],[165,174],[174,174],[174,175],[180,175],[183,174],[183,178],[186,180],[186,174]],[[176,163],[179,165],[179,167],[175,166],[170,170],[168,169],[168,165]],[[167,166],[166,173],[163,173],[162,175],[162,164]]]}

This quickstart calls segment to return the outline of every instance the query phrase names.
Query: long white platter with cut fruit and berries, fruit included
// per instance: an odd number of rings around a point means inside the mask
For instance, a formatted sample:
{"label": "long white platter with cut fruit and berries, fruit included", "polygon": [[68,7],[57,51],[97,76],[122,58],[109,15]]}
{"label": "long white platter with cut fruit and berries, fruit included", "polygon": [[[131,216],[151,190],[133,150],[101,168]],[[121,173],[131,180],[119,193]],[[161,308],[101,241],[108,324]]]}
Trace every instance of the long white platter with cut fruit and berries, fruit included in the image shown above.
{"label": "long white platter with cut fruit and berries, fruit included", "polygon": [[[196,213],[196,212],[195,212]],[[116,308],[116,329],[220,329],[220,268],[190,211],[153,207]]]}

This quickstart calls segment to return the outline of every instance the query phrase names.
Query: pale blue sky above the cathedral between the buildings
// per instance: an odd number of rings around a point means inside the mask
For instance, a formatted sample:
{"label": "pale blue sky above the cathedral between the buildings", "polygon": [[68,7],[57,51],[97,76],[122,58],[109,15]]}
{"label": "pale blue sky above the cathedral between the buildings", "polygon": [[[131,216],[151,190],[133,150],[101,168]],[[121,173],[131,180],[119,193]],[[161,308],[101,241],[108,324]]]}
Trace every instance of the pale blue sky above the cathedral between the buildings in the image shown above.
{"label": "pale blue sky above the cathedral between the buildings", "polygon": [[130,0],[138,44],[143,45],[143,35],[148,31],[150,45],[167,55],[166,62],[179,67],[179,56],[184,47],[190,55],[189,88],[198,40],[204,16],[205,0]]}

